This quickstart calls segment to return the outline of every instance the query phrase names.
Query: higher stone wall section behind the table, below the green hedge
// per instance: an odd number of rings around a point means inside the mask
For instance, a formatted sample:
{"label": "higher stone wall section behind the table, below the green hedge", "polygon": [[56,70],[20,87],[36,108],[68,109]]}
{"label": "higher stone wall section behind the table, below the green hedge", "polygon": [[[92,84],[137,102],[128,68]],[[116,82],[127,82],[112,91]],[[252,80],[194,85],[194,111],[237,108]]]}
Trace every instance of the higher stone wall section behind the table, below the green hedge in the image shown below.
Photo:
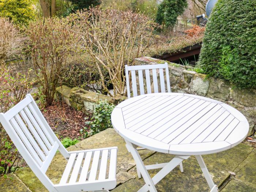
{"label": "higher stone wall section behind the table, below the green hedge", "polygon": [[[141,57],[135,60],[136,65],[166,62],[151,57]],[[241,90],[226,80],[207,78],[206,75],[193,71],[193,67],[170,62],[168,64],[172,92],[201,95],[233,106],[247,118],[250,124],[248,136],[253,135],[256,129],[255,89]]]}

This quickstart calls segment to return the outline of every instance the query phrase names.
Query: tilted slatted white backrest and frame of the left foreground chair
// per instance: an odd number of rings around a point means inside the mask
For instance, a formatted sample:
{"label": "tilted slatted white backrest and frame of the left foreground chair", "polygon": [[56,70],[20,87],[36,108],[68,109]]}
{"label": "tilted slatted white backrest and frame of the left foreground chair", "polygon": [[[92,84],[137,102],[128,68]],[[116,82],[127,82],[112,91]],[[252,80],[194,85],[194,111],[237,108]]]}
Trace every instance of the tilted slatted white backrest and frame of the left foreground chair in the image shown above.
{"label": "tilted slatted white backrest and frame of the left foreground chair", "polygon": [[56,191],[45,174],[46,170],[57,150],[65,158],[70,155],[46,122],[33,97],[28,94],[6,113],[1,113],[0,122],[42,184],[49,191]]}

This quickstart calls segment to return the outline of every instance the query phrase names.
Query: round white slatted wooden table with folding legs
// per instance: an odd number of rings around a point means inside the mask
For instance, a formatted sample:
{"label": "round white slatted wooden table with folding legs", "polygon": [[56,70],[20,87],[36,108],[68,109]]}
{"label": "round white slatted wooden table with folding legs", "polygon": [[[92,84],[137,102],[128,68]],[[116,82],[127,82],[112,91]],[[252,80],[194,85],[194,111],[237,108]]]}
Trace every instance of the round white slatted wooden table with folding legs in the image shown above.
{"label": "round white slatted wooden table with folding legs", "polygon": [[[139,192],[157,192],[155,184],[190,155],[195,155],[210,191],[217,192],[201,155],[230,149],[241,143],[249,131],[248,121],[233,107],[183,93],[153,93],[127,99],[114,108],[111,120],[146,183]],[[145,166],[136,150],[138,146],[176,156],[168,163]],[[161,167],[150,178],[147,170]]]}

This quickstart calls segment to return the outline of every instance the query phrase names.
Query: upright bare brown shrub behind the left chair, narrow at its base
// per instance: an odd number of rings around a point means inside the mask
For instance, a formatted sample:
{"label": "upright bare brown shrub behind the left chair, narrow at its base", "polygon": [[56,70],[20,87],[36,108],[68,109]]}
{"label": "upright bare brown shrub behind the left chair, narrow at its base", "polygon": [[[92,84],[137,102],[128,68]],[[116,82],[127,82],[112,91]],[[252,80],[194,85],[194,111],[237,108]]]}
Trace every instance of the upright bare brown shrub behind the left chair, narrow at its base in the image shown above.
{"label": "upright bare brown shrub behind the left chair, narrow at its base", "polygon": [[45,104],[48,106],[53,102],[69,56],[75,57],[73,48],[78,42],[78,35],[72,31],[68,18],[46,18],[30,22],[26,33],[29,36],[39,90],[45,95]]}

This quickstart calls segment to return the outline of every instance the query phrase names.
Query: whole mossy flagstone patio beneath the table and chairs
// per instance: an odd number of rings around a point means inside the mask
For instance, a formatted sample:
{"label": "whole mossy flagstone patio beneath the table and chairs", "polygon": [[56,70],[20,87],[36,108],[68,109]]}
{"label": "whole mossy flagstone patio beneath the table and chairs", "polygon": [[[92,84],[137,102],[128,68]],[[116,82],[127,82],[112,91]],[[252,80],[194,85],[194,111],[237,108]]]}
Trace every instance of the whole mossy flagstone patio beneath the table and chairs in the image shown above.
{"label": "whole mossy flagstone patio beneath the table and chairs", "polygon": [[[114,129],[107,129],[90,138],[82,140],[68,151],[85,150],[102,147],[118,147],[117,155],[117,187],[112,192],[138,191],[144,180],[138,179],[135,162],[125,147],[125,142]],[[146,165],[170,161],[174,155],[156,153],[150,150],[139,151]],[[222,192],[255,192],[256,191],[256,148],[242,143],[217,154],[203,156],[208,170]],[[183,161],[184,173],[176,167],[156,188],[159,192],[209,192],[206,180],[196,159],[192,156]],[[57,184],[65,167],[65,159],[59,152],[46,174]],[[159,169],[149,170],[153,177]],[[234,172],[236,175],[230,174]],[[8,178],[0,177],[0,192],[47,192],[29,167],[9,174]]]}

